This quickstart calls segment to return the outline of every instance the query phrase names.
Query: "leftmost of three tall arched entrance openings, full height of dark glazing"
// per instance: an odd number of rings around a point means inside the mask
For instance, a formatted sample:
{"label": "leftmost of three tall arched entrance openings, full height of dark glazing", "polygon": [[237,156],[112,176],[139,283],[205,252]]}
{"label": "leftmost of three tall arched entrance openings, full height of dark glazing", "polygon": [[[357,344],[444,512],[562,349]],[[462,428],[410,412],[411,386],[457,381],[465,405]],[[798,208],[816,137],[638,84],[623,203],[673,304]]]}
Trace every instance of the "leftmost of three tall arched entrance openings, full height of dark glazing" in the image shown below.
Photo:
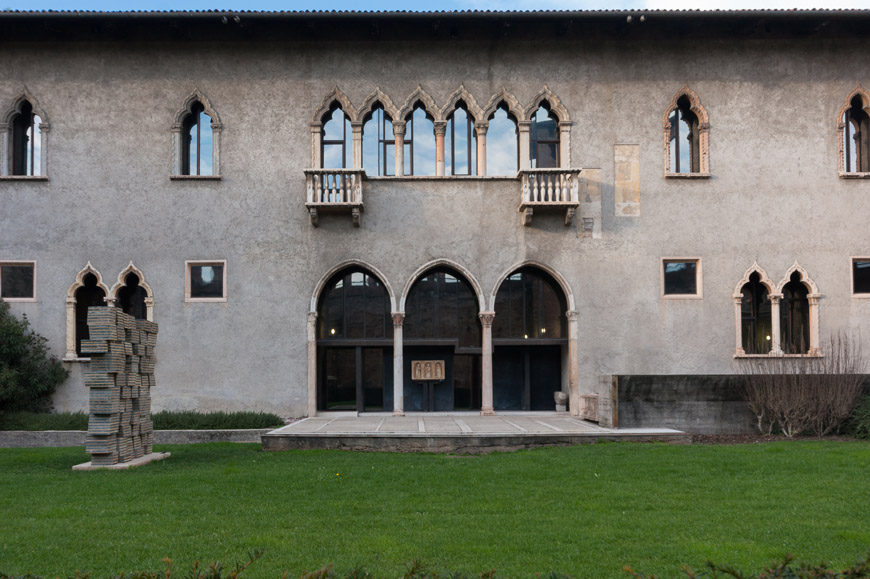
{"label": "leftmost of three tall arched entrance openings, full height of dark glazing", "polygon": [[332,276],[317,307],[317,409],[392,410],[392,345],[381,280],[357,266]]}

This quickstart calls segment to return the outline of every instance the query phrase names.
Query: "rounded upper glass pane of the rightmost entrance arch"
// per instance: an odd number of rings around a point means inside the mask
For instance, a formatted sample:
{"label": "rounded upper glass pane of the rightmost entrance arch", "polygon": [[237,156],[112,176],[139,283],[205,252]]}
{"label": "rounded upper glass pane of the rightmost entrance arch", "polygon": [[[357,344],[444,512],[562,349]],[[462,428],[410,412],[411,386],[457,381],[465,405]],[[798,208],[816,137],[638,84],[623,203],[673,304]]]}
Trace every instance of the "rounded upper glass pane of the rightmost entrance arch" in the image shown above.
{"label": "rounded upper glass pane of the rightmost entrance arch", "polygon": [[549,275],[533,268],[519,270],[499,287],[493,338],[563,338],[565,310],[562,291]]}

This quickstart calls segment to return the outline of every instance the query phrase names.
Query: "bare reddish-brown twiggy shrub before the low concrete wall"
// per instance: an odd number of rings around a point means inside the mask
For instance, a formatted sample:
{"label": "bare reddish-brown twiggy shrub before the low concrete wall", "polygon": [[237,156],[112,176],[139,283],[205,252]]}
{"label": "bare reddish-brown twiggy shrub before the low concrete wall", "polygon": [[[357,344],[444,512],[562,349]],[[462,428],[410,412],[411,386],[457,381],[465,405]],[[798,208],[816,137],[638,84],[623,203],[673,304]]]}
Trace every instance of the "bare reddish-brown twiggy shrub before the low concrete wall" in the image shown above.
{"label": "bare reddish-brown twiggy shrub before the low concrete wall", "polygon": [[866,368],[860,340],[839,333],[828,340],[821,357],[741,361],[743,395],[762,434],[824,436],[855,409]]}

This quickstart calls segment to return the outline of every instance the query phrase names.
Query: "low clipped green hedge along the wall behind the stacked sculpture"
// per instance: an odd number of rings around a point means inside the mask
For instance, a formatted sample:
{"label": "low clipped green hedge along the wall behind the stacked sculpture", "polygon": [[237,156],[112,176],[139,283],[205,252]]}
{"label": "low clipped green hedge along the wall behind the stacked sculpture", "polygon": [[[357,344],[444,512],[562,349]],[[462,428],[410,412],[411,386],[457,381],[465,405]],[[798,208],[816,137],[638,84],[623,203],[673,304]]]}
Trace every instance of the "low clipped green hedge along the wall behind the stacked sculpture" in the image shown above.
{"label": "low clipped green hedge along the wall behind the stacked sculpture", "polygon": [[[265,412],[155,412],[155,430],[222,430],[234,428],[277,428],[284,420]],[[87,430],[83,412],[0,413],[0,430]]]}

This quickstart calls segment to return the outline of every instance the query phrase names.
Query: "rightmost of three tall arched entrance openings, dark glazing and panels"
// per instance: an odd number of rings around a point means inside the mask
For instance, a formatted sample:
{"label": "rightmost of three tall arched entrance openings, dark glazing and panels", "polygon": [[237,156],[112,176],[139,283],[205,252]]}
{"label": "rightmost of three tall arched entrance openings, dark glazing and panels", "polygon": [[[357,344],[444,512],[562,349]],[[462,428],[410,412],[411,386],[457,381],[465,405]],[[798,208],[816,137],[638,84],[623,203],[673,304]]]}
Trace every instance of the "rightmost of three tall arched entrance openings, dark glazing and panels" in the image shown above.
{"label": "rightmost of three tall arched entrance openings, dark glazing and panels", "polygon": [[546,272],[522,267],[502,282],[495,299],[493,408],[554,410],[568,356],[565,295]]}

